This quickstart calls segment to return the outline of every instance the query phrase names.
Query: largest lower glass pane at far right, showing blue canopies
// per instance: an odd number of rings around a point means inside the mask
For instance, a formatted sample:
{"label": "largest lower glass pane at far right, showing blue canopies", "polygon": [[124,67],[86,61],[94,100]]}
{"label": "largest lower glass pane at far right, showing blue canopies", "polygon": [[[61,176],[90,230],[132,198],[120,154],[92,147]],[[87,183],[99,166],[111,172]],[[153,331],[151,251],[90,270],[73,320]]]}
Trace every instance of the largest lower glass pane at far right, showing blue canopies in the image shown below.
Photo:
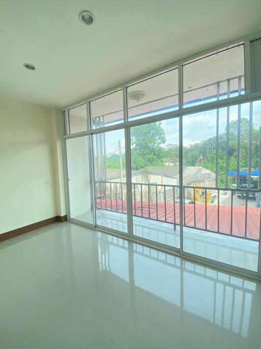
{"label": "largest lower glass pane at far right, showing blue canopies", "polygon": [[257,101],[182,117],[184,251],[252,271],[260,231],[260,111]]}

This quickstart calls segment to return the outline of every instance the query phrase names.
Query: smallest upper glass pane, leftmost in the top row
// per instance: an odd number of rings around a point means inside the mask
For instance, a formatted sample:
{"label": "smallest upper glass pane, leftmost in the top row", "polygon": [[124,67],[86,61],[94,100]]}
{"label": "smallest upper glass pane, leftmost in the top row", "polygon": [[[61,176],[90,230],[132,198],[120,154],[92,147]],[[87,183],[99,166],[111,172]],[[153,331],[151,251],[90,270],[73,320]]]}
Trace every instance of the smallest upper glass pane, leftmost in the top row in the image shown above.
{"label": "smallest upper glass pane, leftmost in the top row", "polygon": [[70,134],[87,130],[86,103],[69,109]]}

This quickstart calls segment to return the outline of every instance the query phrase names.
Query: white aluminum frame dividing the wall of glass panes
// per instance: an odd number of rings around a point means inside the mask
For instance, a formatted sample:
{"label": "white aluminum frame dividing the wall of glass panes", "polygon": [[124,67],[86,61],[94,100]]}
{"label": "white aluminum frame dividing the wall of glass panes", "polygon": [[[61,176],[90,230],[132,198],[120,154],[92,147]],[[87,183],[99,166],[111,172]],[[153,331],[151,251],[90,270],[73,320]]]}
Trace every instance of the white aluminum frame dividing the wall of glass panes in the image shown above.
{"label": "white aluminum frame dividing the wall of glass panes", "polygon": [[[174,62],[170,65],[164,66],[162,68],[156,69],[153,72],[150,72],[148,74],[145,74],[141,77],[135,78],[131,81],[128,81],[126,83],[120,84],[118,86],[115,86],[113,88],[110,88],[106,91],[103,91],[99,94],[96,94],[94,96],[88,97],[84,100],[81,100],[80,102],[71,104],[65,108],[62,109],[62,113],[64,115],[64,125],[63,125],[63,153],[64,153],[64,171],[66,174],[66,204],[67,204],[67,213],[68,213],[68,220],[89,228],[95,228],[99,231],[107,232],[109,234],[115,235],[120,238],[125,238],[129,241],[133,241],[135,243],[143,244],[148,247],[156,248],[158,250],[161,250],[163,252],[167,252],[170,254],[178,255],[179,257],[185,257],[188,260],[194,261],[194,262],[200,262],[204,265],[210,266],[210,267],[217,267],[221,270],[225,271],[232,271],[235,274],[243,275],[243,276],[251,276],[255,279],[260,280],[261,279],[261,244],[260,244],[260,236],[259,236],[259,255],[258,255],[258,269],[257,271],[251,271],[247,269],[243,269],[240,267],[235,267],[229,264],[225,264],[222,262],[214,261],[207,259],[205,257],[201,257],[199,255],[190,254],[188,252],[185,252],[183,250],[183,205],[182,205],[182,190],[179,191],[179,212],[180,212],[180,248],[171,247],[168,245],[164,245],[158,242],[153,242],[151,240],[147,240],[141,237],[137,237],[133,235],[133,225],[132,225],[132,183],[131,183],[131,148],[129,147],[130,142],[130,128],[138,125],[144,125],[148,123],[153,123],[157,121],[163,121],[168,120],[172,118],[179,118],[179,157],[182,158],[182,116],[193,114],[197,112],[212,110],[212,109],[219,109],[223,107],[230,107],[233,105],[241,105],[243,103],[248,102],[254,102],[261,100],[261,91],[257,92],[250,92],[251,91],[251,81],[250,81],[250,41],[259,39],[261,37],[261,32],[251,34],[239,39],[232,40],[230,42],[215,46],[214,48],[199,52],[195,55],[189,56],[185,59],[181,59],[177,62]],[[224,51],[226,49],[232,48],[234,46],[238,46],[240,44],[244,45],[244,58],[245,58],[245,94],[239,95],[236,97],[226,98],[222,100],[217,100],[214,102],[206,102],[204,104],[191,106],[191,107],[183,107],[182,99],[183,99],[183,83],[182,83],[182,69],[183,66],[190,63],[191,61],[195,61],[197,58],[202,58],[203,56],[209,56],[210,54],[215,53],[215,51]],[[156,75],[160,75],[163,73],[166,73],[167,71],[171,71],[175,68],[178,68],[178,109],[175,111],[165,112],[158,115],[153,115],[151,117],[145,117],[138,120],[128,121],[127,120],[127,87],[137,84],[139,82],[142,82],[144,80],[147,80],[149,78],[153,78]],[[97,129],[91,129],[91,117],[90,117],[90,102],[93,100],[96,100],[98,98],[104,97],[106,95],[112,94],[113,92],[116,92],[118,90],[122,89],[123,91],[123,122],[119,123],[117,125],[112,126],[105,126]],[[72,109],[73,107],[79,106],[83,103],[86,103],[87,106],[87,131],[82,131],[78,133],[69,134],[68,133],[68,110]],[[93,135],[98,134],[102,132],[108,132],[111,130],[119,130],[124,129],[125,133],[125,145],[126,145],[126,151],[125,151],[125,160],[126,160],[126,186],[127,186],[127,224],[128,224],[128,232],[127,234],[124,232],[119,232],[114,229],[102,227],[96,224],[96,221],[94,222],[94,225],[90,225],[88,223],[84,223],[81,221],[76,221],[74,219],[71,219],[69,216],[69,200],[68,200],[68,175],[67,175],[67,159],[66,159],[66,146],[65,142],[68,138],[74,138],[74,137],[80,137],[83,135]],[[92,157],[93,157],[93,151],[92,151]],[[181,161],[182,162],[182,161]],[[94,167],[92,162],[92,171],[94,173]],[[94,176],[93,177],[93,188],[94,187]],[[182,188],[182,165],[179,166],[179,185],[180,188]]]}

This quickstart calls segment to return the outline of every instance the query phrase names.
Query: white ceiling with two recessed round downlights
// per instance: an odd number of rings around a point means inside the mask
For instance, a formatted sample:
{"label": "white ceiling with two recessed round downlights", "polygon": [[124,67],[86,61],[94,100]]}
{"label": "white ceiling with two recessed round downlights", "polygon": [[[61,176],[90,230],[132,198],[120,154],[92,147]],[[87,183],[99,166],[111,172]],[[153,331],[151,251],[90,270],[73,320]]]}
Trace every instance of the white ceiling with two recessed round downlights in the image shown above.
{"label": "white ceiling with two recessed round downlights", "polygon": [[0,93],[61,108],[261,31],[260,13],[260,0],[2,1]]}

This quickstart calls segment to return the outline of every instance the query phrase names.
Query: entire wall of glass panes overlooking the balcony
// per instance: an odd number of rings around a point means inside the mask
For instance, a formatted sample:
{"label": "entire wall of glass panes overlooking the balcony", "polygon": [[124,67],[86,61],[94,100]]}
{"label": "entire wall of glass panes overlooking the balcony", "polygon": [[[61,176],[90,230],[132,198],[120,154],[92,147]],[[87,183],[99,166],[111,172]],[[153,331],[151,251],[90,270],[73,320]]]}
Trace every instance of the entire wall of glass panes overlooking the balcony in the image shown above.
{"label": "entire wall of glass panes overlooking the balcony", "polygon": [[70,218],[256,272],[261,101],[226,101],[245,93],[244,45],[182,70],[178,114],[177,68],[90,101],[90,120],[86,104],[68,109],[66,132],[88,134],[65,137]]}

